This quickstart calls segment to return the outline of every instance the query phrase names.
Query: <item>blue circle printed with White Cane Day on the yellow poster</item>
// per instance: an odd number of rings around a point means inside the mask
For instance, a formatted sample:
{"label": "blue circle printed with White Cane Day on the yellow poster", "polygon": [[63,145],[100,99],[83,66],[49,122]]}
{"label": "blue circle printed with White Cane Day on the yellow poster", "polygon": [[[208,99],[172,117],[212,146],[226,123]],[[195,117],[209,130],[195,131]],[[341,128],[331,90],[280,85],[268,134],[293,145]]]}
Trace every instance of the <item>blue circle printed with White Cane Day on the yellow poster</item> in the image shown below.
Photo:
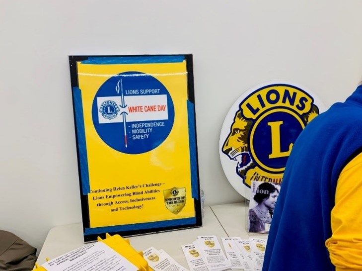
{"label": "blue circle printed with White Cane Day on the yellow poster", "polygon": [[[102,106],[106,100],[114,101],[116,107]],[[116,117],[110,119],[107,114]],[[168,90],[154,77],[140,72],[109,78],[93,99],[92,120],[99,137],[112,149],[126,154],[157,148],[171,132],[174,118]]]}

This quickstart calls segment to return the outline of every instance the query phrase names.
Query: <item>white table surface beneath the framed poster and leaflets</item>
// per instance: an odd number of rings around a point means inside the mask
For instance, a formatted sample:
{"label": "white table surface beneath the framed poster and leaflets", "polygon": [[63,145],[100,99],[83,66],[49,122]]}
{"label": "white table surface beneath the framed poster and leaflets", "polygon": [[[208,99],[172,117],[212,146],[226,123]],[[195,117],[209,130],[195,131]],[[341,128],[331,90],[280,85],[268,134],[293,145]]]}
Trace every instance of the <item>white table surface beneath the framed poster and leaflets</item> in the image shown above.
{"label": "white table surface beneath the framed poster and leaflets", "polygon": [[[200,235],[216,235],[221,246],[221,237],[248,238],[245,231],[245,204],[205,206],[203,226],[199,228],[161,232],[128,238],[137,251],[149,247],[163,249],[180,265],[188,269],[181,245],[190,244]],[[51,229],[38,257],[38,264],[53,259],[84,245],[81,223],[58,226]]]}

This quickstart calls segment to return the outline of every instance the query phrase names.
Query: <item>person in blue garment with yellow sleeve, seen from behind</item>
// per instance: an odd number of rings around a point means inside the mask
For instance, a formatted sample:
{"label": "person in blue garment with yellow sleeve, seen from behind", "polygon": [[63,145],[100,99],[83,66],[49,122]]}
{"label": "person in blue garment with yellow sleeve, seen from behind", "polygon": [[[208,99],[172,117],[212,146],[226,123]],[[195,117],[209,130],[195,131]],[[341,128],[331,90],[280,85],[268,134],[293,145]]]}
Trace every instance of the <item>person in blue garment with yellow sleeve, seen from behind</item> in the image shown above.
{"label": "person in blue garment with yellow sleeve, seen from behind", "polygon": [[263,271],[362,270],[362,86],[315,117],[287,161]]}

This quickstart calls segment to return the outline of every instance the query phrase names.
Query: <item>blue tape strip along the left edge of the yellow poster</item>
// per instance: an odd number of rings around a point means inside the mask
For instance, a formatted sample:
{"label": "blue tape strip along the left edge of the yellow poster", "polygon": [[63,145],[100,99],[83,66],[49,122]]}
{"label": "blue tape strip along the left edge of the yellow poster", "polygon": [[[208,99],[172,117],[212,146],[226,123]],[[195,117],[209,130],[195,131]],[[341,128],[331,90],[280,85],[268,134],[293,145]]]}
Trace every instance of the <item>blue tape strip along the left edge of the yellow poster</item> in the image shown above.
{"label": "blue tape strip along the left edge of the yellow poster", "polygon": [[82,193],[87,195],[90,192],[87,147],[85,145],[85,130],[83,120],[82,94],[79,88],[73,88],[73,100],[75,111],[76,135],[78,140],[79,171],[82,183]]}

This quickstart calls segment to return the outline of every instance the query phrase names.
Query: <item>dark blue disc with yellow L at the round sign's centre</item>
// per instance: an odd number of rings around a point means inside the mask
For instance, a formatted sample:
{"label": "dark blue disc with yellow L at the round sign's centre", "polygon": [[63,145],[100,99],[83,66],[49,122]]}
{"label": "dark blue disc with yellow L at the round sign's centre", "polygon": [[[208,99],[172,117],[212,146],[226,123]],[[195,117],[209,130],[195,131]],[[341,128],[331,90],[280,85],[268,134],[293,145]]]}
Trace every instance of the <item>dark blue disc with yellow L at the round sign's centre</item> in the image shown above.
{"label": "dark blue disc with yellow L at the round sign's centre", "polygon": [[[251,127],[254,129],[254,136],[250,138],[249,146],[253,148],[253,160],[259,161],[261,168],[283,169],[286,166],[289,154],[287,155],[290,144],[294,144],[296,138],[303,130],[301,120],[295,117],[295,113],[285,111],[276,111],[270,114],[262,114],[258,117],[260,121],[256,121],[257,126]],[[271,123],[277,122],[279,128],[278,133],[272,135]],[[271,138],[275,138],[280,143],[280,149],[273,151]],[[276,148],[276,146],[274,146]],[[284,153],[280,157],[271,158],[273,152]]]}

